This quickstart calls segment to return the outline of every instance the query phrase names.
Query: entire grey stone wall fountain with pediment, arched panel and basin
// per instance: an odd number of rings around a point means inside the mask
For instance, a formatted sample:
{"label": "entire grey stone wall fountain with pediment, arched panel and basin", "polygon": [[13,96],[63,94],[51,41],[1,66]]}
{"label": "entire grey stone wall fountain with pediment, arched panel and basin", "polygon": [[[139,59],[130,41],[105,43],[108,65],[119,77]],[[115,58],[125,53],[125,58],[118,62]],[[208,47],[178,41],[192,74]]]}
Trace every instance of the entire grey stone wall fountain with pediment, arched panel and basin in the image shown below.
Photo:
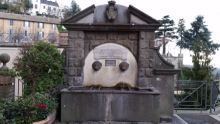
{"label": "entire grey stone wall fountain with pediment, arched panel and basin", "polygon": [[83,124],[170,122],[173,75],[179,70],[154,47],[161,24],[109,1],[64,20],[69,31],[61,121]]}

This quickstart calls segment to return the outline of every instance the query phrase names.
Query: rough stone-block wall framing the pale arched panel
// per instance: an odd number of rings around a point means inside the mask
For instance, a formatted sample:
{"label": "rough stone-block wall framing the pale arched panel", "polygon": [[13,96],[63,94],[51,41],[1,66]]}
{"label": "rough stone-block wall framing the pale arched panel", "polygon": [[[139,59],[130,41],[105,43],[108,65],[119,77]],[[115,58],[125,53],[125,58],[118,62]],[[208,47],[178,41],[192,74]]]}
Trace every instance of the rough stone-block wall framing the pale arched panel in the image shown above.
{"label": "rough stone-block wall framing the pale arched panel", "polygon": [[138,63],[138,86],[147,87],[153,76],[154,33],[153,32],[83,32],[69,31],[67,50],[68,84],[81,86],[83,65],[88,53],[104,43],[117,43],[128,48]]}

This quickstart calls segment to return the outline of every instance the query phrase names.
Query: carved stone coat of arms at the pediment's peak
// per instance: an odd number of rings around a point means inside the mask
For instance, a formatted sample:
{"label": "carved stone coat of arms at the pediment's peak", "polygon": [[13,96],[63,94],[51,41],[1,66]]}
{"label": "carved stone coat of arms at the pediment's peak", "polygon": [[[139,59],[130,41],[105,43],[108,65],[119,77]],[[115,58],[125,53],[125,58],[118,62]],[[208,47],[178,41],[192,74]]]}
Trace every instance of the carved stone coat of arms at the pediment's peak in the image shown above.
{"label": "carved stone coat of arms at the pediment's peak", "polygon": [[108,7],[106,9],[106,14],[107,14],[107,17],[108,17],[108,20],[109,21],[114,21],[115,20],[115,17],[118,13],[118,10],[117,8],[115,7],[115,1],[111,0],[111,1],[108,1]]}

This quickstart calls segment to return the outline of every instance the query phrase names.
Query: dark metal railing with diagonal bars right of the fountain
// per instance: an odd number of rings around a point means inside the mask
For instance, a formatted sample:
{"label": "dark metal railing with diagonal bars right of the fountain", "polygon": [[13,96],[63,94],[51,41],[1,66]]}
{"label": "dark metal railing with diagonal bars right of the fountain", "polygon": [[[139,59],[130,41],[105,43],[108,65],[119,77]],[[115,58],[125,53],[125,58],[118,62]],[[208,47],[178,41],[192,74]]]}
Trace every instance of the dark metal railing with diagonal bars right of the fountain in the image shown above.
{"label": "dark metal railing with diagonal bars right of the fountain", "polygon": [[178,80],[174,90],[175,110],[215,110],[220,105],[219,81]]}

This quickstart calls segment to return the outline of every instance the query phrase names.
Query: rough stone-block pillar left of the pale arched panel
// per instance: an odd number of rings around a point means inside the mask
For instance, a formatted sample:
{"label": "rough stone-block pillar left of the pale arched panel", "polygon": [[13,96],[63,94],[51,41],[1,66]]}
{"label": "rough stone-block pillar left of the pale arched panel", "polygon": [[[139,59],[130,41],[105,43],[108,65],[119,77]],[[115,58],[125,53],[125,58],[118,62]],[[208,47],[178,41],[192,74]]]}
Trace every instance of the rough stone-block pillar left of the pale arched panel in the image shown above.
{"label": "rough stone-block pillar left of the pale arched panel", "polygon": [[69,86],[82,86],[83,58],[84,58],[84,32],[69,31],[69,48],[67,50],[67,75]]}

